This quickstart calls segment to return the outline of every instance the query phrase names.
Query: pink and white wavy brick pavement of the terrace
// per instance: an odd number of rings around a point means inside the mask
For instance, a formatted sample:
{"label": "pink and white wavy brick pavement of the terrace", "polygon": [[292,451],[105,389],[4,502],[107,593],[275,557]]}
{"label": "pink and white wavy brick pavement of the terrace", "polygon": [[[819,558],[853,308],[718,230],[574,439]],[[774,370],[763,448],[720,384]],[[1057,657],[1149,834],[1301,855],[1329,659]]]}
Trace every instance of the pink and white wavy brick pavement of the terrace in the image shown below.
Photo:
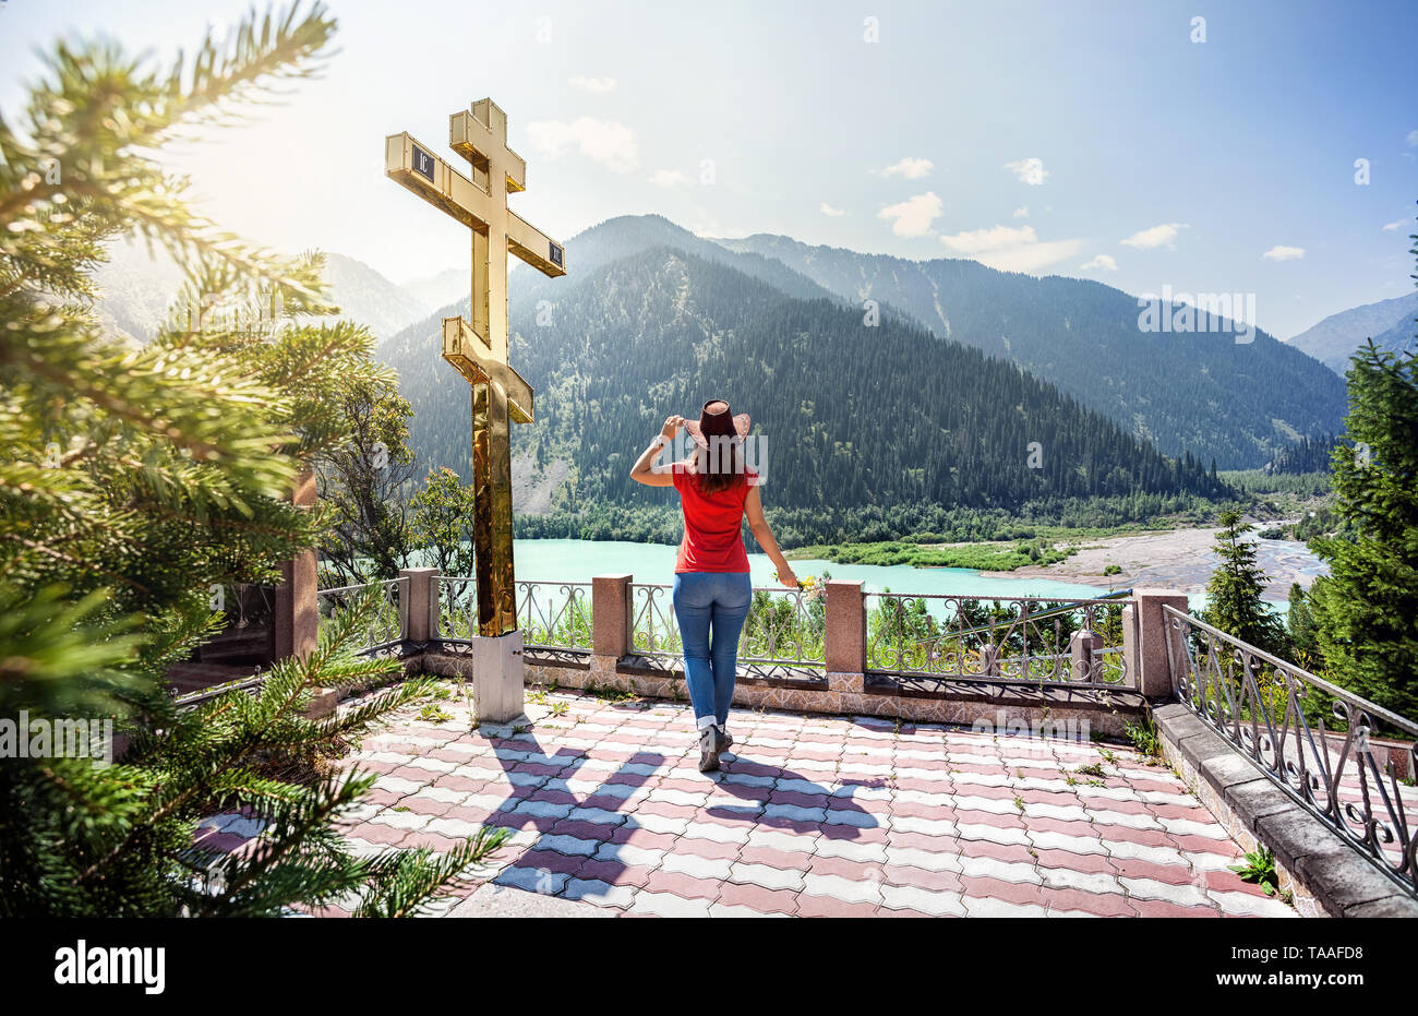
{"label": "pink and white wavy brick pavement of the terrace", "polygon": [[[505,826],[481,881],[624,915],[1295,914],[1127,748],[740,709],[723,769],[700,773],[688,705],[543,698],[520,732],[442,702],[447,722],[410,709],[366,735],[346,763],[379,782],[347,836],[447,849]],[[250,832],[218,817],[208,836]]]}

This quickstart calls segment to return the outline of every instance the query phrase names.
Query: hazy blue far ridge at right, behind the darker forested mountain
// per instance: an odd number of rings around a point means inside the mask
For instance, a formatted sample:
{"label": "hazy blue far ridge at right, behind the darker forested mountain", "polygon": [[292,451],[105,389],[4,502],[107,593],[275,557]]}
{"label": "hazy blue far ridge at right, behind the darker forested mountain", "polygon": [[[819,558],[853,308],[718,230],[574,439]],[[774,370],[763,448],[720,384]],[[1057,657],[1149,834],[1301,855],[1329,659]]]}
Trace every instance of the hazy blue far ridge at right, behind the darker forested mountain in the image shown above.
{"label": "hazy blue far ridge at right, behind the darker forested mountain", "polygon": [[1202,314],[1194,332],[1144,332],[1136,297],[1088,280],[778,236],[720,243],[771,257],[855,304],[885,301],[943,339],[1012,360],[1168,455],[1191,451],[1221,468],[1248,468],[1300,436],[1341,429],[1343,382],[1263,331],[1238,342],[1227,319],[1215,331],[1201,331],[1212,324]]}

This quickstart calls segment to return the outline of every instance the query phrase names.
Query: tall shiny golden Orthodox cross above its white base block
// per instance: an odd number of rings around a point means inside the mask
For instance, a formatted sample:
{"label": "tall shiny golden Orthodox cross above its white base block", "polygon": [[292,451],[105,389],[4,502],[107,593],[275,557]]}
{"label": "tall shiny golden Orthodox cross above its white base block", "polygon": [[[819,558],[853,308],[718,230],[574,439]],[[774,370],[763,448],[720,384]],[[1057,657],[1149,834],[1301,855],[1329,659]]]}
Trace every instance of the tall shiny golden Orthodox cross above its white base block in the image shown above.
{"label": "tall shiny golden Orthodox cross above its white base block", "polygon": [[442,358],[472,386],[478,634],[503,636],[518,627],[509,421],[532,423],[532,387],[508,363],[508,254],[556,278],[566,253],[508,209],[508,194],[526,189],[526,162],[508,148],[508,115],[492,99],[448,118],[448,145],[472,179],[408,133],[384,139],[384,175],[472,230],[472,322],[444,318]]}

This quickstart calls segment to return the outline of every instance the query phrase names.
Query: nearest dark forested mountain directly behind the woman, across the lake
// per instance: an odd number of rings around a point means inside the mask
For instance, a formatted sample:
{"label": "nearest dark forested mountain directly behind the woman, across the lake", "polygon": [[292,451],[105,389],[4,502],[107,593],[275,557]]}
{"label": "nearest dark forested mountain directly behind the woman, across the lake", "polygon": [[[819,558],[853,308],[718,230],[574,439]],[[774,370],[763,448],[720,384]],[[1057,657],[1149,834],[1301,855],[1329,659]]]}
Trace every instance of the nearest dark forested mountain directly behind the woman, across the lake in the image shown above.
{"label": "nearest dark forested mountain directly behind the woman, across the lake", "polygon": [[[515,427],[513,448],[532,473],[573,477],[569,511],[668,504],[668,491],[630,480],[630,464],[668,413],[713,394],[752,412],[773,504],[788,509],[1225,490],[1190,454],[1166,458],[1005,359],[906,319],[866,325],[827,295],[786,294],[761,277],[784,278],[770,260],[657,245],[587,261],[557,281],[554,302],[545,285],[510,299],[512,358],[536,390],[536,426]],[[415,451],[464,473],[468,389],[434,353],[437,324],[410,326],[380,358],[413,403]]]}

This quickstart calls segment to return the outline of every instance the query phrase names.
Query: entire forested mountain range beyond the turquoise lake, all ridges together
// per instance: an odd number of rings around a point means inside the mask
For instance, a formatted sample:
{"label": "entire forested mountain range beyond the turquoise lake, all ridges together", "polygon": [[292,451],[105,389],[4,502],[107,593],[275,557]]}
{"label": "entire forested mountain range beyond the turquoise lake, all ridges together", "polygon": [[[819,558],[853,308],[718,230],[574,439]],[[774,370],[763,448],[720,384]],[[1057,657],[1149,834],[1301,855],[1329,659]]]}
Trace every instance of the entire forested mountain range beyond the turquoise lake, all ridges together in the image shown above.
{"label": "entire forested mountain range beyond the turquoise lake, all ridges together", "polygon": [[[1086,280],[767,234],[710,240],[661,216],[591,227],[566,257],[566,278],[519,268],[509,280],[513,365],[537,392],[537,426],[515,429],[513,475],[519,505],[535,509],[640,497],[620,457],[668,412],[691,413],[706,387],[753,409],[771,424],[764,433],[788,436],[776,446],[776,495],[804,508],[842,497],[842,485],[808,475],[824,457],[845,473],[852,502],[1010,505],[1205,494],[1215,490],[1205,467],[1256,467],[1343,429],[1343,379],[1306,355],[1303,336],[1149,333],[1137,298]],[[465,295],[438,302],[465,294],[467,274],[400,287],[329,254],[326,278],[342,315],[369,325],[380,359],[398,369],[415,451],[465,474],[467,385],[441,362],[437,336],[441,318],[468,312]],[[130,254],[115,257],[101,287],[101,312],[135,336],[176,288]],[[1411,316],[1402,299],[1374,307],[1381,314],[1349,331]],[[1333,339],[1346,314],[1310,332]],[[798,454],[804,441],[811,455]],[[1021,473],[1031,441],[1046,467]]]}

